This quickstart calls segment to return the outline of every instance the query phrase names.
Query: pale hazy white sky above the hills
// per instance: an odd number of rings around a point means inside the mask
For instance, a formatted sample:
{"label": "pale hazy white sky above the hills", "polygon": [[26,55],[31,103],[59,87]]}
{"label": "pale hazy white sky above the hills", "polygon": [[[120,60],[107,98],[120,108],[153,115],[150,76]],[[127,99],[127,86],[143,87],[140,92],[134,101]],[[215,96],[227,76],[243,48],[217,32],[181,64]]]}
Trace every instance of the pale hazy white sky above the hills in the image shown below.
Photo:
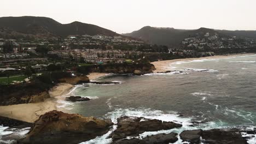
{"label": "pale hazy white sky above the hills", "polygon": [[256,30],[255,0],[0,0],[2,16],[80,21],[117,33],[144,26]]}

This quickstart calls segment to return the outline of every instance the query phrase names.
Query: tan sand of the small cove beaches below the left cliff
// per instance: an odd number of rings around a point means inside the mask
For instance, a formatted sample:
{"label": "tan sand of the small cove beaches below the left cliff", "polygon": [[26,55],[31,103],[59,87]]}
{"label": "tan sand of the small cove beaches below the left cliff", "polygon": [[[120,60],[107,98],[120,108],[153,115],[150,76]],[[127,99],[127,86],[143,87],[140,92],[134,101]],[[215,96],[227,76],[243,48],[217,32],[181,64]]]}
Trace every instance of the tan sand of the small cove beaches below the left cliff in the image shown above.
{"label": "tan sand of the small cove beaches below the left cliff", "polygon": [[[87,76],[92,80],[105,75],[107,73],[91,73]],[[56,107],[57,100],[62,95],[68,94],[73,87],[73,85],[68,83],[59,83],[50,89],[50,98],[41,103],[0,106],[0,116],[33,123],[40,115],[49,111],[58,110]]]}

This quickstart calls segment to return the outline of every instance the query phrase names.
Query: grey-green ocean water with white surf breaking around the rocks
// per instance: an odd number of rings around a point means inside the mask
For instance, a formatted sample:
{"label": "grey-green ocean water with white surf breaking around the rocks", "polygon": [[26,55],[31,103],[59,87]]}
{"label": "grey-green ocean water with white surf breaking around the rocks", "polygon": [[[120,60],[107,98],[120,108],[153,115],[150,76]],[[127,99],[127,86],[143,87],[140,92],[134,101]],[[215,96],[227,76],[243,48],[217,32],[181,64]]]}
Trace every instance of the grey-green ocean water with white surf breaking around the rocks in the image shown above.
{"label": "grey-green ocean water with white surf breaking around the rocks", "polygon": [[[182,128],[145,132],[140,137],[193,129],[256,127],[256,55],[178,61],[166,68],[176,71],[142,76],[109,74],[94,81],[120,83],[77,85],[69,95],[91,100],[59,101],[58,106],[83,116],[111,118],[114,123],[126,115],[183,124]],[[83,144],[112,142],[108,136],[116,127]],[[182,143],[181,139],[176,143]],[[256,143],[255,137],[248,143]]]}

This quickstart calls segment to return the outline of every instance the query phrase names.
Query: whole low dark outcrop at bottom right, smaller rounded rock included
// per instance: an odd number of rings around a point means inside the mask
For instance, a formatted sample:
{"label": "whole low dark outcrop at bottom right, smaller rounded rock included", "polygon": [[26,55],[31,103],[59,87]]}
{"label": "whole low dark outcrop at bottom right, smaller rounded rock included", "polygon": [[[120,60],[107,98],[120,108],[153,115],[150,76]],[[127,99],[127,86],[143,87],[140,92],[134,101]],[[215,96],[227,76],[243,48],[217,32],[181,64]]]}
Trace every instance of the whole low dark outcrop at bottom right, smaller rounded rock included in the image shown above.
{"label": "whole low dark outcrop at bottom right, smaller rounded rock included", "polygon": [[[238,129],[211,129],[211,130],[186,130],[179,136],[183,141],[191,143],[209,143],[209,144],[242,144],[247,143]],[[202,137],[202,140],[200,140]]]}

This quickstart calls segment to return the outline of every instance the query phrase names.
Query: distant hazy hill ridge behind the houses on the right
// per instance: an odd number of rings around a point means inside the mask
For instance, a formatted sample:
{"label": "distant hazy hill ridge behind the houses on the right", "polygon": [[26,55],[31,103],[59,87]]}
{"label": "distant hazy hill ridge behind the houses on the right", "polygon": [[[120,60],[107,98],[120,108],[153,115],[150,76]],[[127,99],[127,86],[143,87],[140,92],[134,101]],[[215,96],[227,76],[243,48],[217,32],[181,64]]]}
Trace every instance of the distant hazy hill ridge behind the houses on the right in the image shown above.
{"label": "distant hazy hill ridge behind the houses on the right", "polygon": [[191,36],[202,37],[207,32],[210,35],[218,34],[220,37],[229,38],[232,36],[256,39],[256,31],[219,31],[209,28],[199,29],[174,29],[174,28],[157,28],[146,26],[138,31],[126,33],[124,35],[134,38],[140,38],[149,44],[167,45],[168,47],[178,48],[185,38]]}

